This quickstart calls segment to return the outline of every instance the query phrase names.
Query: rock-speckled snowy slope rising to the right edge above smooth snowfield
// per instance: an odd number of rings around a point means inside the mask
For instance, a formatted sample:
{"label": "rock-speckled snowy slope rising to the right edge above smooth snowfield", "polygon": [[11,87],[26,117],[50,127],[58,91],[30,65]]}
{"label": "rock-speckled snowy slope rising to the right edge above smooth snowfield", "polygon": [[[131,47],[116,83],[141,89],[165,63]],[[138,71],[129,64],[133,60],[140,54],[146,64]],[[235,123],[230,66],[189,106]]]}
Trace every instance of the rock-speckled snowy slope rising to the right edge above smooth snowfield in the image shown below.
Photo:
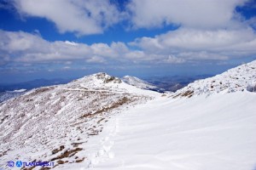
{"label": "rock-speckled snowy slope rising to the right edge above smooth snowfield", "polygon": [[[185,88],[177,90],[174,97],[201,94],[230,93],[251,90],[256,86],[256,60],[237,66],[215,77],[198,80]],[[256,91],[256,90],[254,90]]]}

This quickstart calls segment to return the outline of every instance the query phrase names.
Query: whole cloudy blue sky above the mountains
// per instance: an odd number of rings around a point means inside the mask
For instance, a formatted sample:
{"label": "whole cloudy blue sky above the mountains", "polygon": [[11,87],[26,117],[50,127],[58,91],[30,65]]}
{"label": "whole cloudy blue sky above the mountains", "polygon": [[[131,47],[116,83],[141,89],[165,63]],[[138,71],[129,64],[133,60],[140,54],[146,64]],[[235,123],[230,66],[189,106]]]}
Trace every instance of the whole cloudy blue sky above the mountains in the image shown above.
{"label": "whole cloudy blue sky above the mountains", "polygon": [[0,82],[218,74],[256,59],[256,1],[0,0]]}

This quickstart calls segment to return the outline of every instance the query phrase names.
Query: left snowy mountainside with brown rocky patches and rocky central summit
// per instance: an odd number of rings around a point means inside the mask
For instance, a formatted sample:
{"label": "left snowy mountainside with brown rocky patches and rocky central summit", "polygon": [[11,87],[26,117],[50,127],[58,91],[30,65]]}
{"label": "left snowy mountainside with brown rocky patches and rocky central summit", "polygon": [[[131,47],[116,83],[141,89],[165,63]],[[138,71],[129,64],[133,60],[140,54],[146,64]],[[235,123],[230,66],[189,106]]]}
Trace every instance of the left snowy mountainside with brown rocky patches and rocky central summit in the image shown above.
{"label": "left snowy mountainside with brown rocky patches and rocky central summit", "polygon": [[158,95],[97,73],[9,99],[0,104],[3,168],[11,160],[54,161],[55,167],[84,161],[88,139],[110,116]]}

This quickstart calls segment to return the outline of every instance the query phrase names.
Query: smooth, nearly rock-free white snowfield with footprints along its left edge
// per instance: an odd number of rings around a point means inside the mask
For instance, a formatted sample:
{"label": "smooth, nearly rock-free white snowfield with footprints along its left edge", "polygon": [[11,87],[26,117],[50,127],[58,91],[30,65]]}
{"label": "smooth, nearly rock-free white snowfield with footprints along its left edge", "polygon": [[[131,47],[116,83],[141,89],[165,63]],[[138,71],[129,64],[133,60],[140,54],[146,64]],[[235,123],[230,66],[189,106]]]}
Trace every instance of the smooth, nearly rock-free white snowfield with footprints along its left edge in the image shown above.
{"label": "smooth, nearly rock-free white snowfield with footprints along its left edge", "polygon": [[[88,148],[91,169],[254,170],[256,94],[160,97],[115,116]],[[101,141],[100,143],[98,141]]]}

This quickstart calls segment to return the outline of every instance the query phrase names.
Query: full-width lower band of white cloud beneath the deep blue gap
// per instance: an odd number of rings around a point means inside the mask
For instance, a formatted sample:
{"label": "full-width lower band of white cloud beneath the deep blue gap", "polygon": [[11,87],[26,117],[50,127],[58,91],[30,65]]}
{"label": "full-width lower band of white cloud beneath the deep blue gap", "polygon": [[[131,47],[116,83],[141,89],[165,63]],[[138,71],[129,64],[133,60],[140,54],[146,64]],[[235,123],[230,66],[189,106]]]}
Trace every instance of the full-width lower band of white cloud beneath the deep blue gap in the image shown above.
{"label": "full-width lower band of white cloud beneath the deep blue gap", "polygon": [[178,29],[156,37],[124,42],[93,43],[49,42],[38,34],[1,31],[0,65],[6,63],[87,63],[182,64],[201,60],[227,60],[256,54],[256,34],[251,29],[205,31]]}

